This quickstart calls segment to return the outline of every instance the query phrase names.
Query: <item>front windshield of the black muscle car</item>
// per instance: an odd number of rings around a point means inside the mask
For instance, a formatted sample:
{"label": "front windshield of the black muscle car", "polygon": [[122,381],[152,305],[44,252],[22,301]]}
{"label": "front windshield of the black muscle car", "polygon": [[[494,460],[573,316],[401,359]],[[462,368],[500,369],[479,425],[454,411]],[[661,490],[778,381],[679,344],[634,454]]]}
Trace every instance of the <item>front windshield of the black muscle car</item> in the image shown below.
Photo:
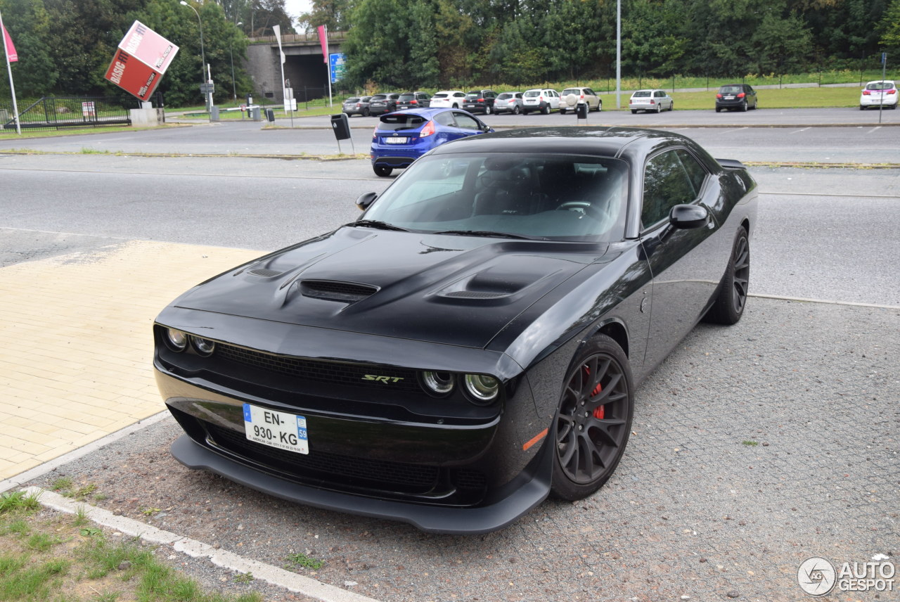
{"label": "front windshield of the black muscle car", "polygon": [[486,153],[421,157],[365,212],[418,232],[611,242],[625,232],[627,164]]}

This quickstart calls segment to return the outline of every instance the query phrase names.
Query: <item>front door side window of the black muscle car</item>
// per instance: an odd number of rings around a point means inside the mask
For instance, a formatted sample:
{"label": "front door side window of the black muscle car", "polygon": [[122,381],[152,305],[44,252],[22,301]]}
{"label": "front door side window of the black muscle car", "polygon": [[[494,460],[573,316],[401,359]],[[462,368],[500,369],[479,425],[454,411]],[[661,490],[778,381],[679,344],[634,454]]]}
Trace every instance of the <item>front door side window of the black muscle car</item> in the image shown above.
{"label": "front door side window of the black muscle car", "polygon": [[[693,157],[681,149],[667,150],[647,161],[644,167],[644,204],[641,209],[641,224],[649,228],[669,217],[675,205],[694,202],[699,188],[695,186],[688,169],[681,162],[684,156],[693,161],[692,168],[700,171]],[[704,177],[706,172],[703,172]],[[703,179],[699,179],[703,184]]]}

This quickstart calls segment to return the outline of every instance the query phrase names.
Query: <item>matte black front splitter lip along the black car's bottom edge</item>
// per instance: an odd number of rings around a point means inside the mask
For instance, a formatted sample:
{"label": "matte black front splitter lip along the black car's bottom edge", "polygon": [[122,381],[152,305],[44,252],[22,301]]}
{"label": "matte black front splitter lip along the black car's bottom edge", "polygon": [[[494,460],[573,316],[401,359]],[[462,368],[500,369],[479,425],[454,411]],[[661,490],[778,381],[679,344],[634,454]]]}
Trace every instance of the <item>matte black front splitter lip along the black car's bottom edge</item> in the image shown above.
{"label": "matte black front splitter lip along the black car's bottom edge", "polygon": [[[543,470],[545,467],[541,466],[541,470],[536,472],[536,476],[491,506],[441,508],[385,499],[364,498],[284,481],[216,454],[210,449],[195,443],[187,435],[175,439],[170,449],[172,455],[175,456],[175,460],[183,463],[188,468],[215,472],[230,481],[235,481],[276,498],[363,517],[397,520],[410,523],[410,525],[428,533],[453,535],[491,533],[516,521],[544,501],[550,493],[550,472]],[[553,458],[553,454],[544,455]],[[544,475],[547,476],[544,477]]]}

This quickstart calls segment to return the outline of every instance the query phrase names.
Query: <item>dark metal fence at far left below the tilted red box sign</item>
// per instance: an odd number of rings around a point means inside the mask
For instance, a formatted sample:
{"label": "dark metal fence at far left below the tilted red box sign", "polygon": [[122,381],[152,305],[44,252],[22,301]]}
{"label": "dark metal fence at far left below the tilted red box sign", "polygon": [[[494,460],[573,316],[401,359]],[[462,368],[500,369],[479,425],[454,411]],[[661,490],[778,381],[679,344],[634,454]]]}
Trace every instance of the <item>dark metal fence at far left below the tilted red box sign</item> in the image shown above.
{"label": "dark metal fence at far left below the tilted red box sign", "polygon": [[[131,125],[129,110],[139,106],[129,97],[45,96],[24,109],[20,105],[19,125],[23,130]],[[0,126],[15,130],[12,103],[0,102]]]}

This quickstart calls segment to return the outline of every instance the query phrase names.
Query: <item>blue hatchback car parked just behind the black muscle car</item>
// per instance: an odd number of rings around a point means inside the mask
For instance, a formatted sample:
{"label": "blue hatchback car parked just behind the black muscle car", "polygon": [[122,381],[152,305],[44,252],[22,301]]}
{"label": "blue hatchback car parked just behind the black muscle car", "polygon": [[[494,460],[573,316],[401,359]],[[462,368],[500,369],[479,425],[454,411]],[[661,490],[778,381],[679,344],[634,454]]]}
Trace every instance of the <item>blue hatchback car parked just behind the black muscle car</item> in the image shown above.
{"label": "blue hatchback car parked just behind the black muscle car", "polygon": [[391,175],[445,142],[487,133],[491,127],[459,109],[410,109],[379,118],[372,132],[375,175]]}

